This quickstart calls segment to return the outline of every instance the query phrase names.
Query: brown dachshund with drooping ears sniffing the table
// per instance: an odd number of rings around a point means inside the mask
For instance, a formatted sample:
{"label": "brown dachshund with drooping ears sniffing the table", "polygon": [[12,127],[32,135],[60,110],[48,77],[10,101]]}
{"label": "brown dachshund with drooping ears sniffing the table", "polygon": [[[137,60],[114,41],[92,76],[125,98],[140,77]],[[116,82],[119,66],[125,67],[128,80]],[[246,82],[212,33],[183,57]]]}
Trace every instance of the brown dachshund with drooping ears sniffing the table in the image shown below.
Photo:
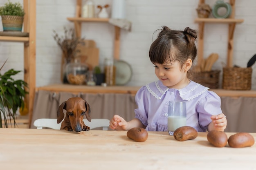
{"label": "brown dachshund with drooping ears sniffing the table", "polygon": [[[67,110],[64,121],[63,109]],[[86,100],[80,97],[71,97],[67,101],[63,102],[57,110],[57,123],[61,123],[61,129],[68,131],[88,131],[89,126],[86,126],[83,122],[83,116],[91,122],[91,109]]]}

